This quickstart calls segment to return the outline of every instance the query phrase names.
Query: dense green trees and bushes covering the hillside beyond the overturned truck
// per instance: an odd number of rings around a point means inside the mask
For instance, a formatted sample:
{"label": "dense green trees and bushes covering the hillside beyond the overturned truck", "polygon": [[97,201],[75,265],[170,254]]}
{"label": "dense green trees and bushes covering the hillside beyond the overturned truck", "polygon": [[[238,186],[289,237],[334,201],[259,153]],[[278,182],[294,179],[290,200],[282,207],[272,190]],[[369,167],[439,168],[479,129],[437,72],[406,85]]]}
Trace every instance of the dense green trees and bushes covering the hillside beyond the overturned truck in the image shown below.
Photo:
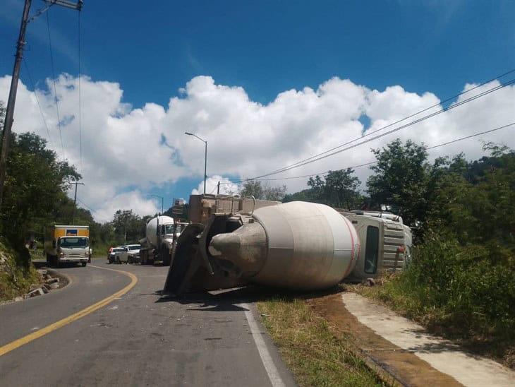
{"label": "dense green trees and bushes covering the hillside beyond the overturned truck", "polygon": [[418,173],[412,188],[390,190],[396,155],[409,148],[396,141],[377,151],[368,187],[372,203],[391,201],[416,222],[418,245],[404,273],[363,291],[515,367],[515,152],[485,143],[490,156],[480,160],[429,165],[419,150],[404,161]]}

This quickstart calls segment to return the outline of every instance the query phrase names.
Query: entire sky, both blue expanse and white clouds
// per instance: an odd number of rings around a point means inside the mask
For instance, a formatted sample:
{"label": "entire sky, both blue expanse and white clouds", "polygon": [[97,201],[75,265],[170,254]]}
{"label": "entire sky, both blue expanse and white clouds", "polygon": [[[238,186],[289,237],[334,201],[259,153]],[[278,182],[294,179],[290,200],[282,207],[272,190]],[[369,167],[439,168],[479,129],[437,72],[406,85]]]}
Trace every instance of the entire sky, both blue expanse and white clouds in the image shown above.
{"label": "entire sky, both blue expanse and white clouds", "polygon": [[[31,14],[42,6],[33,0]],[[4,0],[0,8],[4,101],[22,9],[21,0]],[[204,144],[184,131],[208,142],[207,192],[217,181],[226,183],[222,192],[234,192],[231,181],[290,165],[426,107],[437,105],[428,111],[435,112],[447,97],[515,69],[514,15],[514,1],[85,0],[80,18],[53,6],[28,25],[13,131],[40,134],[78,168],[85,183],[80,205],[96,220],[109,220],[119,208],[154,213],[160,201],[150,195],[164,196],[168,207],[173,198],[203,190]],[[510,85],[272,177],[363,164],[373,160],[370,148],[396,137],[432,146],[514,121]],[[480,140],[515,148],[514,133],[511,126],[430,157],[462,151],[481,157]],[[356,174],[364,184],[370,169]],[[306,180],[267,184],[294,192]]]}

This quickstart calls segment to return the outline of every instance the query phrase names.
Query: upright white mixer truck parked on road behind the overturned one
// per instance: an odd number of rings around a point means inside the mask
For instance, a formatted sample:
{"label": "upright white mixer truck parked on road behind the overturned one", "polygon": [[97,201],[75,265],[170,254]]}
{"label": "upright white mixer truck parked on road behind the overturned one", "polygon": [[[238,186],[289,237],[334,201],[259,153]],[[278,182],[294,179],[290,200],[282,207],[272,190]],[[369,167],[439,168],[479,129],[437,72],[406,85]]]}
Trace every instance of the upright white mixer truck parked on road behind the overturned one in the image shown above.
{"label": "upright white mixer truck parked on road behind the overturned one", "polygon": [[175,222],[174,218],[160,215],[147,223],[145,238],[140,239],[140,263],[162,262],[168,266],[174,255],[174,246],[187,223]]}

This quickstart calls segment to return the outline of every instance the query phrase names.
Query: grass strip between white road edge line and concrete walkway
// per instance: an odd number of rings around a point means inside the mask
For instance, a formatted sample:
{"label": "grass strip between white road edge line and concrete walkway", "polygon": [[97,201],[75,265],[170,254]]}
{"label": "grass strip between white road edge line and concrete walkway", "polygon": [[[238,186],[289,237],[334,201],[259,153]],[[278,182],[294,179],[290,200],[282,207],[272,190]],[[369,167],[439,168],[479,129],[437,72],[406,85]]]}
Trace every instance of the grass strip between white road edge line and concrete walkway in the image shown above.
{"label": "grass strip between white road edge line and concrete walkway", "polygon": [[300,386],[381,386],[302,299],[259,302],[262,321]]}

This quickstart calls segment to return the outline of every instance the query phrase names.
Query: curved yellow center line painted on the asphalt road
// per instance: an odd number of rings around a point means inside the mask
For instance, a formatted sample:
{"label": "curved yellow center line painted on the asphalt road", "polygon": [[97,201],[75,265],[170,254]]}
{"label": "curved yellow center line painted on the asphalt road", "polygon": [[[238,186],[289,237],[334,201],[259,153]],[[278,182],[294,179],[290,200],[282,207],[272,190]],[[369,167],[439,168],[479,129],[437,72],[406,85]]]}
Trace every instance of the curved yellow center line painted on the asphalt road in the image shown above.
{"label": "curved yellow center line painted on the asphalt road", "polygon": [[59,320],[59,321],[56,321],[55,323],[50,324],[49,326],[45,326],[44,328],[41,328],[39,331],[35,331],[33,333],[30,333],[30,335],[26,335],[23,338],[19,338],[18,340],[11,341],[11,343],[1,346],[0,347],[0,356],[5,355],[6,353],[11,352],[12,350],[16,350],[16,348],[21,347],[22,345],[30,343],[31,341],[36,340],[37,338],[40,338],[44,335],[47,335],[50,332],[56,331],[56,329],[66,326],[69,323],[72,323],[73,321],[76,321],[79,318],[83,318],[84,316],[87,316],[88,314],[106,306],[107,304],[109,304],[109,302],[113,301],[114,299],[116,299],[118,297],[121,297],[123,294],[126,294],[126,292],[131,290],[134,287],[134,285],[136,285],[136,282],[138,282],[138,277],[133,275],[133,273],[129,273],[128,271],[115,270],[115,269],[109,269],[109,268],[101,268],[99,266],[93,266],[93,265],[90,265],[90,266],[92,268],[99,268],[99,269],[103,269],[103,270],[112,270],[112,271],[116,271],[118,273],[122,273],[123,275],[127,275],[129,278],[131,278],[131,283],[128,284],[126,287],[123,287],[122,290],[119,290],[118,292],[111,294],[109,297],[104,298],[95,304],[87,306],[87,308],[85,308],[81,311],[78,311],[77,313],[74,313],[71,316],[65,317],[62,320]]}

